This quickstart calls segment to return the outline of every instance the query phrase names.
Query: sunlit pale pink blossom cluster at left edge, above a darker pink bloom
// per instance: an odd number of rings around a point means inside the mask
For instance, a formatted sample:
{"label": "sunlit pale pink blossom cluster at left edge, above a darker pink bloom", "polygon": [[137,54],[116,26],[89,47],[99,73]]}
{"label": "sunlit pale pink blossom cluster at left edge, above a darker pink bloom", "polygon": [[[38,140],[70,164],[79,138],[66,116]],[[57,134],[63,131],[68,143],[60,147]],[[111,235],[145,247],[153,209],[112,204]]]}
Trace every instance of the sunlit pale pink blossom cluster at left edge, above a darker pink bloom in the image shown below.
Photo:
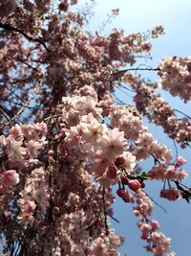
{"label": "sunlit pale pink blossom cluster at left edge, above a darker pink bloom", "polygon": [[47,127],[45,123],[33,125],[15,125],[8,137],[1,136],[2,153],[8,155],[11,167],[27,167],[38,162],[40,149],[47,144]]}

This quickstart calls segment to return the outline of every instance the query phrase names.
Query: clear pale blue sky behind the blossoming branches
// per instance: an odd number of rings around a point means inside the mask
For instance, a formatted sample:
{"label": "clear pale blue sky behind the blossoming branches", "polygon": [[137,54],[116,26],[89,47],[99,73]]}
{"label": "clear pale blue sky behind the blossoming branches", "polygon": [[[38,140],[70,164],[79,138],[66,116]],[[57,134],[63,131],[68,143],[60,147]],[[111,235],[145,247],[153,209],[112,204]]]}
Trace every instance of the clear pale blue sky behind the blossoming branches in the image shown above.
{"label": "clear pale blue sky behind the blossoming branches", "polygon": [[[79,0],[84,4],[88,1]],[[165,35],[153,41],[152,56],[153,60],[146,64],[156,67],[159,59],[165,56],[191,56],[191,1],[190,0],[97,0],[95,7],[95,16],[87,30],[98,31],[102,21],[107,19],[107,14],[111,9],[119,8],[119,15],[113,20],[112,24],[106,26],[104,35],[109,33],[112,28],[123,29],[125,33],[146,32],[156,25],[162,25],[165,29]],[[157,80],[154,74],[143,74],[146,77]],[[128,103],[128,96],[117,92],[118,97]],[[163,97],[170,102],[173,107],[191,115],[191,105],[184,105],[177,98],[171,98],[167,93],[162,93]],[[145,121],[146,122],[146,121]],[[174,149],[172,141],[168,140],[162,133],[161,128],[155,128],[149,125],[154,136],[161,143],[167,143]],[[187,185],[191,187],[191,150],[180,151],[179,153],[187,157],[188,164],[186,169],[190,173]],[[142,164],[144,171],[149,171],[149,163]],[[154,218],[161,223],[161,231],[166,236],[172,238],[172,248],[178,256],[191,255],[191,204],[179,200],[175,203],[159,198],[159,190],[162,187],[160,183],[149,184],[146,186],[147,193],[162,205],[167,211],[165,214],[159,206],[154,208]],[[120,223],[112,221],[117,230],[117,234],[126,236],[126,243],[121,247],[121,255],[125,252],[127,256],[146,256],[140,242],[140,233],[137,230],[136,223],[138,219],[133,217],[132,206],[117,200],[115,204],[115,217]]]}

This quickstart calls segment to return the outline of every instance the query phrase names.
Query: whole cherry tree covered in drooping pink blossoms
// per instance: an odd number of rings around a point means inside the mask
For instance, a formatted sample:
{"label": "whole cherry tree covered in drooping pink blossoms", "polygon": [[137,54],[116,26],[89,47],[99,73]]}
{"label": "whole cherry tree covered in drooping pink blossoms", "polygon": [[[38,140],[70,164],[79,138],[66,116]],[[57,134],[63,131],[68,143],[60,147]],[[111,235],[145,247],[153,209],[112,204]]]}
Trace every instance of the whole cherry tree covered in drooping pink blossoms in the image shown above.
{"label": "whole cherry tree covered in drooping pink blossoms", "polygon": [[[168,200],[191,198],[183,185],[186,160],[159,144],[144,117],[190,147],[189,116],[179,118],[157,88],[191,99],[191,58],[163,58],[138,68],[150,55],[145,34],[84,32],[94,1],[0,0],[0,229],[8,255],[117,256],[124,242],[112,229],[113,203],[133,209],[145,249],[175,253],[152,219],[147,182],[163,181]],[[113,10],[111,17],[117,15]],[[150,70],[159,82],[134,71]],[[114,92],[134,91],[134,105]],[[150,170],[142,160],[153,158]],[[113,189],[117,185],[117,191]]]}

